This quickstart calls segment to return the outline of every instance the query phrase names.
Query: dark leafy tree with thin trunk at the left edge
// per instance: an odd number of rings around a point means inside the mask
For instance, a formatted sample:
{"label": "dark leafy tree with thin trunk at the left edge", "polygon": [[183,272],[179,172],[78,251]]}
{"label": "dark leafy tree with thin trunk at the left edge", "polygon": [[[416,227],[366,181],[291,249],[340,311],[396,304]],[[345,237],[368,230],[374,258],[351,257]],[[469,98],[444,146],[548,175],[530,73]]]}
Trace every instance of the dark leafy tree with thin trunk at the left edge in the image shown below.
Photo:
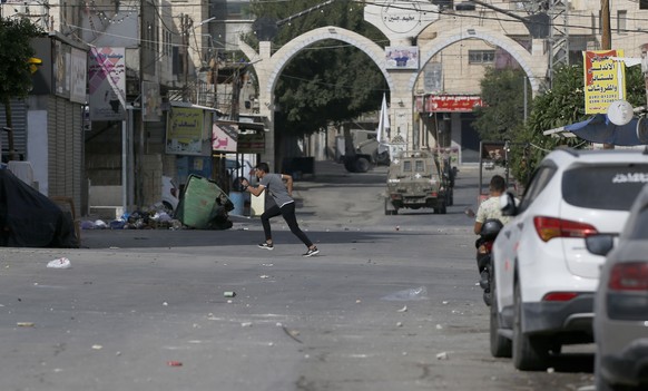
{"label": "dark leafy tree with thin trunk at the left edge", "polygon": [[[27,19],[0,18],[0,101],[4,106],[7,127],[13,127],[11,120],[11,98],[24,98],[31,90],[30,58],[33,49],[30,40],[41,30]],[[12,133],[9,137],[10,158],[13,157]]]}

